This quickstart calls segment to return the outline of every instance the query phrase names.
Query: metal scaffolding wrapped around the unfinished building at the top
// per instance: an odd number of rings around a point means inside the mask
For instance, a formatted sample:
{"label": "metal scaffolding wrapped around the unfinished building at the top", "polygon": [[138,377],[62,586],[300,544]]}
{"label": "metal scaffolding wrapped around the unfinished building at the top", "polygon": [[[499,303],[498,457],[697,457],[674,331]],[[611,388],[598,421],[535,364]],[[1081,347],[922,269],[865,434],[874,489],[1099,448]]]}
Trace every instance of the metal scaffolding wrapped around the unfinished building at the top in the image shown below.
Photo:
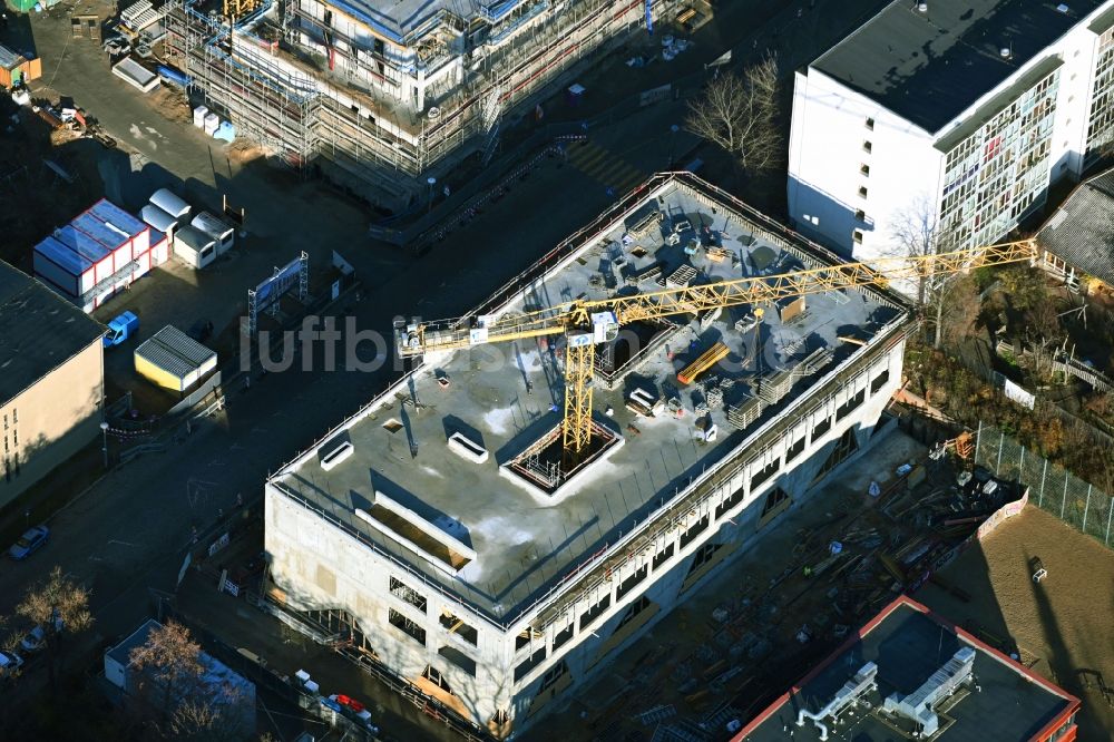
{"label": "metal scaffolding wrapped around the unfinished building at the top", "polygon": [[[639,28],[643,18],[641,0],[583,0],[534,19],[446,88],[443,100],[432,100],[434,117],[411,113],[407,125],[383,115],[392,104],[377,99],[380,94],[334,81],[299,60],[305,53],[301,35],[313,28],[297,0],[277,2],[281,42],[258,39],[250,25],[233,30],[219,17],[198,12],[192,0],[172,2],[167,47],[189,76],[195,100],[300,173],[317,160],[400,198],[420,195],[427,176],[442,175],[468,155],[489,162],[508,109],[525,105],[590,51]],[[656,10],[663,16],[674,4],[665,0]],[[369,67],[378,58],[335,53],[383,77]]]}

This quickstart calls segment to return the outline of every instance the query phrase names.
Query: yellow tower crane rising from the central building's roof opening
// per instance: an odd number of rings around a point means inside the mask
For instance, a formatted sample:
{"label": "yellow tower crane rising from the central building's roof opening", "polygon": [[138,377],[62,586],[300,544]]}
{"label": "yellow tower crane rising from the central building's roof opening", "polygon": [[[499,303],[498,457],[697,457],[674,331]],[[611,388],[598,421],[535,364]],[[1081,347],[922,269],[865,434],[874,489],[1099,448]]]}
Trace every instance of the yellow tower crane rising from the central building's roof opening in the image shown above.
{"label": "yellow tower crane rising from the central building's roof opening", "polygon": [[886,286],[891,282],[941,276],[988,265],[1033,262],[1032,240],[932,255],[882,257],[872,265],[842,263],[776,275],[749,276],[681,289],[664,289],[609,299],[578,299],[525,313],[507,313],[475,321],[399,321],[394,325],[402,358],[451,351],[483,343],[565,335],[565,418],[561,445],[566,465],[576,465],[592,440],[592,369],[597,343],[614,340],[618,329],[639,320],[655,320],[772,302],[843,289]]}

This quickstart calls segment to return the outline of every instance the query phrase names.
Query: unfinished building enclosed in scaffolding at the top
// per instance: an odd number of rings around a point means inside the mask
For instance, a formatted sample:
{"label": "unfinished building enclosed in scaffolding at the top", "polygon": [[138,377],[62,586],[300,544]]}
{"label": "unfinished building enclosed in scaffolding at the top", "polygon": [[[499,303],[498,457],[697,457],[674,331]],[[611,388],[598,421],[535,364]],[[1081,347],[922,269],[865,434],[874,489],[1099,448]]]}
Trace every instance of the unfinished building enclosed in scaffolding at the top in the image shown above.
{"label": "unfinished building enclosed in scaffolding at the top", "polygon": [[[684,0],[172,0],[167,50],[193,102],[302,168],[391,207],[574,66]],[[265,3],[265,4],[264,4]]]}

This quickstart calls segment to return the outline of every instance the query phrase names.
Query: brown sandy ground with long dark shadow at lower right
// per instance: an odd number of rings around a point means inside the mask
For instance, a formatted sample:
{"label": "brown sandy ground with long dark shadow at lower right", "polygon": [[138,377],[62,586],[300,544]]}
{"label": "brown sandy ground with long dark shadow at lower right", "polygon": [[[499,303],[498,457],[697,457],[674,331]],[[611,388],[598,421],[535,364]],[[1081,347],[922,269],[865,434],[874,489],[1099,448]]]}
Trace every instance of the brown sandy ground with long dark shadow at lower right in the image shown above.
{"label": "brown sandy ground with long dark shadow at lower right", "polygon": [[[1035,584],[1029,560],[1048,577]],[[964,602],[935,585],[915,597],[991,644],[1019,651],[1033,670],[1083,701],[1079,740],[1114,735],[1114,695],[1103,697],[1094,671],[1114,683],[1114,553],[1029,506],[941,576],[970,594]]]}

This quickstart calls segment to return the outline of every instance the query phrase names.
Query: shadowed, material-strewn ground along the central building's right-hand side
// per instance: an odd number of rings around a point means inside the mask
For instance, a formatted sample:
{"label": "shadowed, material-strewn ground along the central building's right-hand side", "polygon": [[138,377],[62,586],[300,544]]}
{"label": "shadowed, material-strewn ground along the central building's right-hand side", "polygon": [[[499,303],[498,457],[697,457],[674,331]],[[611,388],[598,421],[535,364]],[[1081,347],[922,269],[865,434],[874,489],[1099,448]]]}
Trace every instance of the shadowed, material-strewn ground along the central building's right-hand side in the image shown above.
{"label": "shadowed, material-strewn ground along the central building's right-hand side", "polygon": [[[567,709],[528,730],[525,739],[648,739],[654,722],[643,723],[638,715],[658,706],[670,710],[661,725],[678,725],[675,733],[685,724],[717,729],[723,714],[747,719],[803,676],[841,641],[833,635],[837,625],[862,623],[893,597],[891,579],[872,582],[870,597],[858,605],[861,616],[839,615],[830,595],[853,589],[837,576],[840,570],[802,576],[802,566],[817,564],[818,553],[827,554],[831,540],[880,524],[880,504],[866,494],[871,481],[886,482],[902,463],[924,460],[924,446],[900,430],[881,436],[872,449],[821,485],[812,499],[764,528],[752,548],[610,661],[608,672],[579,690]],[[929,481],[952,476],[941,469]],[[847,551],[856,550],[857,545],[848,545]],[[715,614],[722,612],[739,618],[720,622]],[[804,625],[814,638],[801,644],[794,635]],[[743,662],[736,665],[742,672],[715,682],[731,666],[727,656],[751,637],[768,643],[768,658]],[[625,736],[637,733],[644,736]]]}

